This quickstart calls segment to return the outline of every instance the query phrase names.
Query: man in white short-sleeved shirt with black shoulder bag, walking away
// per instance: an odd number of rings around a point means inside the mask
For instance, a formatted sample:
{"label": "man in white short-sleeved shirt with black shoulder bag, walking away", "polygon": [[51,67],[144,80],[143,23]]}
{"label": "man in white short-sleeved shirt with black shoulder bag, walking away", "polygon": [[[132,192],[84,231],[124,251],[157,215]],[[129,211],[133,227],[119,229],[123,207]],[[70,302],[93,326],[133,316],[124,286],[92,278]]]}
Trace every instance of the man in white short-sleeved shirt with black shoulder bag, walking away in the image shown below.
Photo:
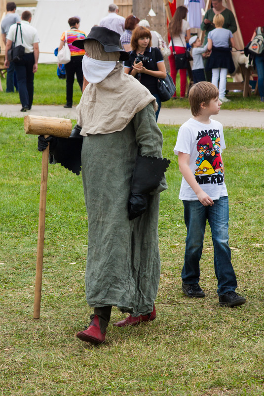
{"label": "man in white short-sleeved shirt with black shoulder bag, walking away", "polygon": [[[5,62],[4,67],[9,67],[9,60],[7,58],[8,50],[12,47],[22,45],[25,48],[25,53],[21,60],[15,62],[15,71],[18,83],[19,98],[22,104],[21,111],[31,109],[34,92],[34,73],[38,70],[38,32],[33,26],[30,26],[32,15],[30,11],[24,11],[21,16],[21,24],[13,24],[10,26],[5,46]],[[17,30],[18,27],[18,30]],[[21,30],[20,30],[21,29]],[[17,30],[17,38],[15,41]],[[22,35],[22,37],[21,37]]]}

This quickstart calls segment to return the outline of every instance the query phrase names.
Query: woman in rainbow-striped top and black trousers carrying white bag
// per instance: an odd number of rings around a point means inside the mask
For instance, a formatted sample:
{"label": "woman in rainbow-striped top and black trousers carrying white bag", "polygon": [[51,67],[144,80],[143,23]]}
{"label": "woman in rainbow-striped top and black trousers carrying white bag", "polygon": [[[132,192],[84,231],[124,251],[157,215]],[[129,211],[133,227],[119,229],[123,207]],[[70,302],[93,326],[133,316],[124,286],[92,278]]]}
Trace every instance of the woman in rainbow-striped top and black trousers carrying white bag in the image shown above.
{"label": "woman in rainbow-striped top and black trousers carrying white bag", "polygon": [[[74,87],[74,76],[76,73],[77,82],[80,86],[80,90],[82,91],[83,84],[83,74],[82,74],[82,66],[81,61],[82,57],[85,54],[83,49],[79,49],[72,45],[75,40],[85,39],[86,35],[83,31],[79,30],[80,19],[77,17],[72,17],[68,20],[70,25],[70,30],[67,33],[67,42],[71,51],[71,61],[65,65],[66,70],[66,101],[67,103],[64,105],[66,108],[71,108],[73,105],[73,87]],[[61,42],[59,49],[62,49],[65,44],[65,32],[61,36]]]}

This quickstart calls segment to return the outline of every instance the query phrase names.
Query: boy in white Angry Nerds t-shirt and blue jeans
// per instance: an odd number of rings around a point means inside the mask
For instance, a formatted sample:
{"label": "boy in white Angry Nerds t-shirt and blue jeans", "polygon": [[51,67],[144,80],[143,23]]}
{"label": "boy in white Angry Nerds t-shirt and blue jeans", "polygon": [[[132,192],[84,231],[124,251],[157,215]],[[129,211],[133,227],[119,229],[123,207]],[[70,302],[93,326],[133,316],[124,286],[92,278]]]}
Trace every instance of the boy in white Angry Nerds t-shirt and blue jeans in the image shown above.
{"label": "boy in white Angry Nerds t-shirt and blue jeans", "polygon": [[219,303],[236,307],[245,304],[246,299],[235,293],[237,282],[228,246],[228,194],[221,157],[226,148],[223,126],[210,119],[219,113],[222,102],[218,95],[218,89],[208,82],[190,88],[193,117],[181,126],[174,148],[183,175],[179,198],[183,200],[187,227],[182,291],[188,297],[205,297],[199,286],[199,262],[208,220],[214,244]]}

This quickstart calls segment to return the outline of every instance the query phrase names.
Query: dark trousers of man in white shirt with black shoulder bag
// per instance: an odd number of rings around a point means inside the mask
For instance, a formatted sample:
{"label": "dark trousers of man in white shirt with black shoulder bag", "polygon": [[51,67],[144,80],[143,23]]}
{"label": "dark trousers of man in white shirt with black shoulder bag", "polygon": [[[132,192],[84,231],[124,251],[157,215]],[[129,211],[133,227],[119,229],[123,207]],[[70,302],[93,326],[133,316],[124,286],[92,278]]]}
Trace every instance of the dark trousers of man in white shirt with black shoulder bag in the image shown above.
{"label": "dark trousers of man in white shirt with black shoulder bag", "polygon": [[20,102],[23,107],[29,106],[30,109],[34,92],[34,63],[35,59],[33,52],[24,54],[21,61],[15,63]]}

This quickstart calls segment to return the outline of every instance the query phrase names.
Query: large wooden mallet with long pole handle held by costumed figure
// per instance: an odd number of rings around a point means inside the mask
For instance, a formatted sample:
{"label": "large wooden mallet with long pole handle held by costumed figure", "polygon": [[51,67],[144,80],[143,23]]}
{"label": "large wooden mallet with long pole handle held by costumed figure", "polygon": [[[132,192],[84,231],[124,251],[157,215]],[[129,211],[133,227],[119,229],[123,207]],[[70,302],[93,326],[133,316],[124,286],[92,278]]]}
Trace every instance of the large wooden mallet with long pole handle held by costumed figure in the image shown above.
{"label": "large wooden mallet with long pole handle held by costumed figure", "polygon": [[[69,137],[72,132],[72,121],[66,118],[25,116],[24,129],[28,134],[44,135],[44,137],[58,136]],[[45,234],[45,213],[46,213],[46,196],[48,180],[48,154],[49,143],[42,152],[41,165],[41,182],[39,197],[39,215],[38,215],[38,246],[37,246],[37,265],[36,265],[36,283],[34,299],[34,319],[39,319],[40,301],[41,301],[41,284],[42,284],[42,266]]]}

